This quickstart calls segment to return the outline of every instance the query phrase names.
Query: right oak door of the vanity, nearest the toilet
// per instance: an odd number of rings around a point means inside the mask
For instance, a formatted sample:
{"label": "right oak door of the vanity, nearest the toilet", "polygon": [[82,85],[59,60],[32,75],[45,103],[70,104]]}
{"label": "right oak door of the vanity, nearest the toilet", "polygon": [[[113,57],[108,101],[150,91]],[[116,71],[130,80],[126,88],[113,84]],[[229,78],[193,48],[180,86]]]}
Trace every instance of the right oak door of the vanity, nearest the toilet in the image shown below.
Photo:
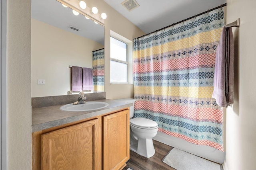
{"label": "right oak door of the vanity, nearest the toilet", "polygon": [[118,170],[130,157],[129,110],[103,117],[103,169]]}

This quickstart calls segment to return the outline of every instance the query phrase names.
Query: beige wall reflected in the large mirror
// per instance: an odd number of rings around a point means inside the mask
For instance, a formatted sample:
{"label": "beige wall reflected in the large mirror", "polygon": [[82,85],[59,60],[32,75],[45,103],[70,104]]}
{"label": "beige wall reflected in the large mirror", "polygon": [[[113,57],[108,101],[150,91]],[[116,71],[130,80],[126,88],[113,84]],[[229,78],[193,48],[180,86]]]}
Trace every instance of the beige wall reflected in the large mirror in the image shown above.
{"label": "beige wall reflected in the large mirror", "polygon": [[[68,66],[92,68],[92,51],[104,45],[47,23],[31,20],[31,97],[66,95]],[[38,85],[44,79],[45,85]]]}

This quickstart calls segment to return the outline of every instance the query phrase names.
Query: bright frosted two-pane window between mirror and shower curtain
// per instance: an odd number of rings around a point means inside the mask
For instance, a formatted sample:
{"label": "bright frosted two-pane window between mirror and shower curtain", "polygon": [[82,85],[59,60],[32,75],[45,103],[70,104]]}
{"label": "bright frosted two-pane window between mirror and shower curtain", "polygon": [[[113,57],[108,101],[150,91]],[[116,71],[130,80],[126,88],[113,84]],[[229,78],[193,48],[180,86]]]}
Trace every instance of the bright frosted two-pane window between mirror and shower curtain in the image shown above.
{"label": "bright frosted two-pane window between mirror and shower curtain", "polygon": [[128,83],[127,44],[110,37],[110,82]]}

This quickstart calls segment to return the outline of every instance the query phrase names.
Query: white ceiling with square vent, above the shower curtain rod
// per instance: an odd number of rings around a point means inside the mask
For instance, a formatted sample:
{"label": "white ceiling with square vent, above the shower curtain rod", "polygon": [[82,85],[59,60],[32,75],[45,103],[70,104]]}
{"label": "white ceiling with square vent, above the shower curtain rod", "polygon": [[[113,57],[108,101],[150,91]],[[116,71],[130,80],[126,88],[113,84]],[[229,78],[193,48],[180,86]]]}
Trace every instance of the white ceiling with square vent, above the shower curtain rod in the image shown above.
{"label": "white ceiling with square vent, above the shower curtain rod", "polygon": [[126,10],[124,0],[104,0],[117,12],[150,33],[226,3],[226,0],[136,0],[140,5]]}

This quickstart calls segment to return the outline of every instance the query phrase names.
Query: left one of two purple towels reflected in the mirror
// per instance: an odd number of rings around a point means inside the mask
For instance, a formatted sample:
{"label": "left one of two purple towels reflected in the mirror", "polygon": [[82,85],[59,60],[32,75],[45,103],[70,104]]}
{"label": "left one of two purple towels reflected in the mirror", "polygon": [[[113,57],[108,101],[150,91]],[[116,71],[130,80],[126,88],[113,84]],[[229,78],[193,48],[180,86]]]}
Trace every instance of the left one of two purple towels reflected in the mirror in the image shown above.
{"label": "left one of two purple towels reflected in the mirror", "polygon": [[82,91],[82,67],[71,67],[72,91]]}

